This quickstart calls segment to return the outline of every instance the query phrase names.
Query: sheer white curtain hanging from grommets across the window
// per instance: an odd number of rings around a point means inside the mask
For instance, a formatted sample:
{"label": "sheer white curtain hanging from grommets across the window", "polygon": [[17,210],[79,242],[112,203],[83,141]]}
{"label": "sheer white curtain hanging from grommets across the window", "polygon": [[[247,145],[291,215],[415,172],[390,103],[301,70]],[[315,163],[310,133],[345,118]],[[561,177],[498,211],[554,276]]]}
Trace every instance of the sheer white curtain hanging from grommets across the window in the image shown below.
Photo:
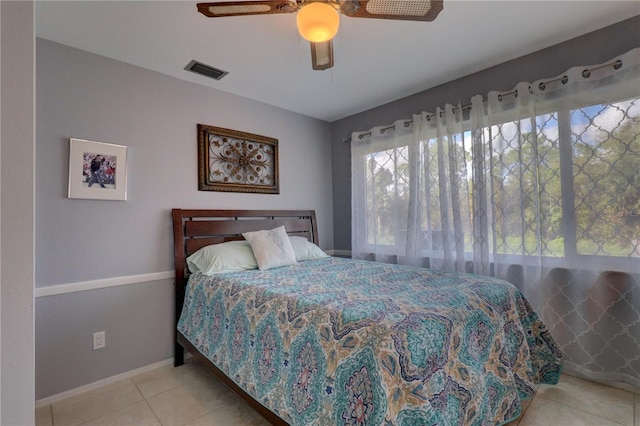
{"label": "sheer white curtain hanging from grommets across the window", "polygon": [[568,369],[640,387],[640,49],[352,135],[353,257],[517,285]]}

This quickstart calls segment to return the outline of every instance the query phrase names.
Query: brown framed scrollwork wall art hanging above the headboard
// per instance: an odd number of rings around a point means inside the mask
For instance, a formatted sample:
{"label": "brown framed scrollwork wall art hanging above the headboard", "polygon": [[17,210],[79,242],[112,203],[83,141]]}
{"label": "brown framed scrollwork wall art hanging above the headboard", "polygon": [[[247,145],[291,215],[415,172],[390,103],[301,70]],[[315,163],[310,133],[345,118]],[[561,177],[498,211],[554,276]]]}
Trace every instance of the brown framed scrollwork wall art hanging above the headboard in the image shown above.
{"label": "brown framed scrollwork wall art hanging above the headboard", "polygon": [[198,190],[279,194],[278,140],[198,124]]}

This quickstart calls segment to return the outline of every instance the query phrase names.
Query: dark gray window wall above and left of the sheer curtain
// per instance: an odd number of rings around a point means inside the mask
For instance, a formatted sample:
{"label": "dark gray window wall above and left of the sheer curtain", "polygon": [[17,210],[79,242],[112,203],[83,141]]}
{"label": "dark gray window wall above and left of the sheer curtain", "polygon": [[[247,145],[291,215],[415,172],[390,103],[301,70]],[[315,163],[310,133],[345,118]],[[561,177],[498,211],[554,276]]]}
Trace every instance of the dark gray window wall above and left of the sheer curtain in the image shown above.
{"label": "dark gray window wall above and left of the sheer curtain", "polygon": [[521,81],[554,77],[578,65],[605,62],[640,46],[640,16],[331,123],[333,231],[336,250],[351,249],[351,153],[354,131],[392,124],[446,103],[467,104],[477,94],[508,91]]}

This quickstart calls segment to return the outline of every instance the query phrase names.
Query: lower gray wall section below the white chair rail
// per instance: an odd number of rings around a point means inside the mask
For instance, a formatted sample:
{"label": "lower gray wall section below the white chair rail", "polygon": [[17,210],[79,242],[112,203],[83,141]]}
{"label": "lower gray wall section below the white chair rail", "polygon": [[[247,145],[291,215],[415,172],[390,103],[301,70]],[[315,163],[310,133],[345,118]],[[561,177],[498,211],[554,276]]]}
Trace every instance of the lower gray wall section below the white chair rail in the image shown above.
{"label": "lower gray wall section below the white chair rail", "polygon": [[36,398],[171,358],[173,300],[173,280],[37,298]]}

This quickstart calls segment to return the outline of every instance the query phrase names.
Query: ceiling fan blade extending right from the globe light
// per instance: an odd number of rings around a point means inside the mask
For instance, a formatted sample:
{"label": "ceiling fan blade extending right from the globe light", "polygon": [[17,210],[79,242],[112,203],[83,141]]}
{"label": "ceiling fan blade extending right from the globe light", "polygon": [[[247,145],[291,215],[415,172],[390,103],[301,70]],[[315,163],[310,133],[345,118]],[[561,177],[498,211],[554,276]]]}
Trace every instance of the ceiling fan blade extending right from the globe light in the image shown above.
{"label": "ceiling fan blade extending right from the globe light", "polygon": [[342,0],[340,12],[352,18],[433,21],[444,8],[442,0]]}

